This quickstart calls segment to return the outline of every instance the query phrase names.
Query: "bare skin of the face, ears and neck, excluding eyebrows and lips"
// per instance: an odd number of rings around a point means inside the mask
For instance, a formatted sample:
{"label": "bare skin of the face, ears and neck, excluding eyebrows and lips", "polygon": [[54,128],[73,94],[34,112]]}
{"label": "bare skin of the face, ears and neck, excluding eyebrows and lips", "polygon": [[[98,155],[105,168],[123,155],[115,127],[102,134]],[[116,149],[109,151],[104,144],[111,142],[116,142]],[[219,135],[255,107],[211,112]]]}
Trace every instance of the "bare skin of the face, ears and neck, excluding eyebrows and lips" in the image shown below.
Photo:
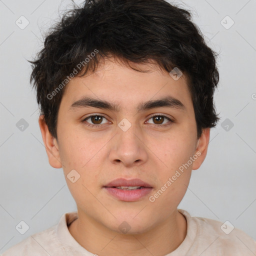
{"label": "bare skin of the face, ears and neck, excluding eyebrows and lips", "polygon": [[[68,227],[74,239],[98,255],[165,255],[176,249],[186,235],[186,220],[177,211],[192,169],[203,162],[209,142],[209,128],[196,138],[196,122],[186,77],[174,80],[154,64],[135,64],[138,72],[114,59],[104,61],[96,72],[74,77],[66,85],[58,118],[57,140],[39,117],[39,126],[49,163],[63,168],[68,188],[76,202],[78,218]],[[118,103],[120,111],[81,107],[70,110],[82,96]],[[157,107],[136,112],[140,102],[171,95],[185,111]],[[102,114],[101,123],[89,118]],[[163,124],[150,115],[165,115]],[[118,123],[126,118],[131,127],[125,132]],[[87,124],[103,124],[88,127]],[[163,126],[165,123],[169,125]],[[158,126],[154,127],[153,124]],[[200,151],[200,156],[157,198],[153,195],[174,175],[180,165]],[[75,169],[80,178],[67,178]],[[153,186],[149,195],[125,202],[109,195],[103,185],[117,177],[140,178]],[[131,229],[122,233],[118,226],[126,221]]]}

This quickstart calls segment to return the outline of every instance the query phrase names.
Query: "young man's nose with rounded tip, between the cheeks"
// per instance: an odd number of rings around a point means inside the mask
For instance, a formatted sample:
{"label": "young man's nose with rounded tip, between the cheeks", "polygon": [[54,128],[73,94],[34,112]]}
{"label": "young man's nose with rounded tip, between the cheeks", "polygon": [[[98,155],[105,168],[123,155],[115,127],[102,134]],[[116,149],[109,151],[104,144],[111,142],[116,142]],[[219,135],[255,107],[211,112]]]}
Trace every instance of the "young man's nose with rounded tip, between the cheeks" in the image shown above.
{"label": "young man's nose with rounded tip, between the cheeks", "polygon": [[109,160],[126,167],[143,164],[148,157],[145,137],[139,127],[131,125],[126,131],[117,127],[117,134],[111,140]]}

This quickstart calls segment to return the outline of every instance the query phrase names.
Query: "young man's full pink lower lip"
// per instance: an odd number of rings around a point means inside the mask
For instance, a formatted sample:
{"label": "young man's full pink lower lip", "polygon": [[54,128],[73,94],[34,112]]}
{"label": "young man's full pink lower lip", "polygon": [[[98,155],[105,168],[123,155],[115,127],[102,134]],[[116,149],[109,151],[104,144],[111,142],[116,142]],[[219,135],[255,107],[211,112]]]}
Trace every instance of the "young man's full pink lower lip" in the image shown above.
{"label": "young man's full pink lower lip", "polygon": [[104,187],[108,193],[121,201],[132,202],[140,199],[146,194],[150,193],[152,187],[145,187],[140,189],[124,190],[115,187]]}

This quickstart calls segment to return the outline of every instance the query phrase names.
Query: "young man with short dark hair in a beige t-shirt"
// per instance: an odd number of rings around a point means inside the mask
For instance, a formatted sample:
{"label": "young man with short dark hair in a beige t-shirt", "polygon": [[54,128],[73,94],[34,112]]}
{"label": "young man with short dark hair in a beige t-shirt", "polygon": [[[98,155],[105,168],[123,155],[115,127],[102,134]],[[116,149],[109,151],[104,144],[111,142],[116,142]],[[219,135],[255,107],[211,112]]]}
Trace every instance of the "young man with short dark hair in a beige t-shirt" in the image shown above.
{"label": "young man with short dark hair in a beige t-shirt", "polygon": [[243,231],[177,209],[219,119],[216,54],[190,19],[164,0],[90,0],[52,28],[31,81],[77,212],[3,256],[256,254]]}

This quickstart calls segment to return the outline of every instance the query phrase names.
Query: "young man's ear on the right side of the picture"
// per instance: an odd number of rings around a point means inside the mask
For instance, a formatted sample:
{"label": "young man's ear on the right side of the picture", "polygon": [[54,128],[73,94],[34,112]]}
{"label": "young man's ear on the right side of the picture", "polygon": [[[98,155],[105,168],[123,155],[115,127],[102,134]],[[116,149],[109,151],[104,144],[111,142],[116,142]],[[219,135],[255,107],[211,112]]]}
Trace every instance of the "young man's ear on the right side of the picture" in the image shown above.
{"label": "young man's ear on the right side of the picture", "polygon": [[198,169],[206,157],[209,137],[210,137],[210,128],[204,128],[202,130],[202,134],[200,138],[197,140],[195,154],[198,155],[198,157],[193,161],[193,165],[192,165],[193,170]]}

